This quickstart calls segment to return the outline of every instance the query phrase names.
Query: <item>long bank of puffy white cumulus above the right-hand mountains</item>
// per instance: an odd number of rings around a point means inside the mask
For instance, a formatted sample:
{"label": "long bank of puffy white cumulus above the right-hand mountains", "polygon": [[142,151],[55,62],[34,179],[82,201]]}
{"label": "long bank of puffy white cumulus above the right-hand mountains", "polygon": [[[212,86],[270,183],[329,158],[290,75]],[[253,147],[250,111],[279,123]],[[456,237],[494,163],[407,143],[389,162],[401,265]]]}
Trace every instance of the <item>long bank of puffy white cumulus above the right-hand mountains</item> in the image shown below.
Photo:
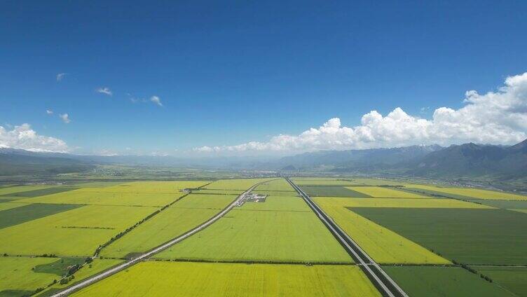
{"label": "long bank of puffy white cumulus above the right-hand mountains", "polygon": [[411,116],[397,107],[383,116],[370,111],[360,125],[345,127],[331,118],[318,128],[299,135],[280,134],[269,141],[250,141],[234,146],[202,146],[193,151],[316,151],[379,148],[413,144],[514,144],[527,137],[527,73],[509,76],[495,92],[465,93],[460,109],[441,107],[432,118]]}

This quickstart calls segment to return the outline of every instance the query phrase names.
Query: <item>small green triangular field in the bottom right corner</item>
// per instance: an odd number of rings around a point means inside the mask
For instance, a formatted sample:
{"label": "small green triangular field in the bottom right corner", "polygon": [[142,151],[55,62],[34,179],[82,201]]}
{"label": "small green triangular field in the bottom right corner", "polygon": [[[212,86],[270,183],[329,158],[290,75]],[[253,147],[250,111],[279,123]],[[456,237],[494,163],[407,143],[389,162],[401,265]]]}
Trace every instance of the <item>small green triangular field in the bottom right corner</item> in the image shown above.
{"label": "small green triangular field in the bottom right corner", "polygon": [[517,296],[527,296],[527,267],[473,266],[472,268]]}

